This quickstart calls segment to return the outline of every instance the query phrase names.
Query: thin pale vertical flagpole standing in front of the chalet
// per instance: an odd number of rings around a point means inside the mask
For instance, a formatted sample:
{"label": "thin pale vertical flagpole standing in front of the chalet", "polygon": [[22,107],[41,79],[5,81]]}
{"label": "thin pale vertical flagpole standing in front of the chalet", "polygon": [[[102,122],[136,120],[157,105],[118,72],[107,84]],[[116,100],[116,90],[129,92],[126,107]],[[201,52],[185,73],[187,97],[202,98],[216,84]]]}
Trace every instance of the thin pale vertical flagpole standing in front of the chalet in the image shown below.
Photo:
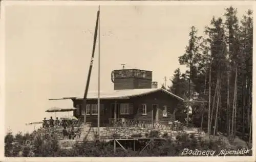
{"label": "thin pale vertical flagpole standing in front of the chalet", "polygon": [[99,117],[100,117],[100,6],[99,6],[99,67],[98,67],[98,134],[99,134],[99,138],[100,138],[100,131],[99,131]]}

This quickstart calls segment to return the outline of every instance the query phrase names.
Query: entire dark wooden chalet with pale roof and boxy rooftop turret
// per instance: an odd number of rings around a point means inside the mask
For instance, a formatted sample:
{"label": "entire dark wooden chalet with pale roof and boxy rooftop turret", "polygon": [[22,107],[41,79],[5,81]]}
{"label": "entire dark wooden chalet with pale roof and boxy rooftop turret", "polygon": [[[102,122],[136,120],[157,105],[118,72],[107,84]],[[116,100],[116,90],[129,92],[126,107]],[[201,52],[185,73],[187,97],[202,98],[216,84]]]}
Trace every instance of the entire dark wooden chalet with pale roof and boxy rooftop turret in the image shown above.
{"label": "entire dark wooden chalet with pale roof and boxy rooftop turret", "polygon": [[[111,74],[114,90],[100,92],[100,126],[107,126],[110,120],[133,119],[139,121],[157,121],[168,123],[174,121],[174,109],[183,98],[162,88],[152,82],[152,71],[138,69],[114,70]],[[66,97],[72,99],[74,116],[97,126],[98,92],[88,92],[87,108],[82,108],[82,97]]]}

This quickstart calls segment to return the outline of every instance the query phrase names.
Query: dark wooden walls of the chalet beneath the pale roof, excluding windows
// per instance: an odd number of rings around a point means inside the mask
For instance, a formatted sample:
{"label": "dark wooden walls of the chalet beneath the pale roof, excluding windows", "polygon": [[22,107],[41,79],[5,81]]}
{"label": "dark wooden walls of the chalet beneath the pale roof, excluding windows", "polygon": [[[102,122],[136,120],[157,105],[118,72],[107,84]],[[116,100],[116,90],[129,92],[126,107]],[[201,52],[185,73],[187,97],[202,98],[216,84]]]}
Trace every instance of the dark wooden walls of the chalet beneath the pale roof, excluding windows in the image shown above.
{"label": "dark wooden walls of the chalet beneath the pale roof, excluding windows", "polygon": [[[150,94],[131,97],[130,99],[101,99],[100,100],[100,126],[107,126],[109,120],[115,118],[114,107],[116,103],[116,118],[135,119],[140,121],[157,121],[160,123],[168,123],[174,121],[173,112],[175,107],[182,100],[164,92],[156,91]],[[79,108],[74,111],[74,116],[83,120],[81,115],[82,99],[73,99],[74,107]],[[97,99],[89,99],[88,104],[97,104]],[[120,113],[120,104],[129,103],[129,114],[122,115]],[[146,105],[146,114],[140,114],[143,110],[142,104]],[[163,116],[164,106],[167,109],[167,116]],[[91,122],[97,126],[98,115],[87,115],[87,122]]]}

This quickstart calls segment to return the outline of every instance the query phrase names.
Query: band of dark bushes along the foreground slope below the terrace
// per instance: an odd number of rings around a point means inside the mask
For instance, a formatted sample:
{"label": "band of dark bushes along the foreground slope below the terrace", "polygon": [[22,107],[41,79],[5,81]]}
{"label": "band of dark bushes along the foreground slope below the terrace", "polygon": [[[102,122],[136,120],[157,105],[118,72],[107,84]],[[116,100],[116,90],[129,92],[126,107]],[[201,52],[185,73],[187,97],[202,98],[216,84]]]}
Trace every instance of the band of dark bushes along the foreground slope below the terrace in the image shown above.
{"label": "band of dark bushes along the foreground slope below the terrace", "polygon": [[[118,137],[118,134],[114,134],[114,136]],[[133,137],[140,136],[141,134],[133,135]],[[166,134],[164,134],[164,136],[166,136]],[[150,134],[148,134],[148,137],[159,138],[159,132],[151,131]],[[9,132],[5,136],[5,156],[180,156],[184,148],[193,150],[215,150],[216,152],[219,152],[221,149],[230,149],[227,147],[227,144],[222,139],[210,139],[209,141],[200,141],[197,140],[193,134],[188,135],[184,132],[180,132],[176,139],[177,141],[172,141],[172,139],[170,138],[166,138],[165,141],[153,141],[141,152],[141,154],[139,154],[139,152],[145,146],[145,142],[143,141],[139,142],[141,145],[137,142],[137,151],[134,151],[131,148],[127,148],[128,152],[126,152],[117,144],[116,152],[114,153],[113,141],[94,142],[86,141],[86,139],[84,139],[81,143],[75,143],[74,146],[70,149],[62,149],[59,147],[57,135],[54,133],[26,133],[23,135],[19,132],[14,137],[12,133]],[[30,141],[30,143],[26,144],[24,141]],[[123,145],[125,142],[122,141],[120,143]],[[125,147],[125,145],[123,146]]]}

